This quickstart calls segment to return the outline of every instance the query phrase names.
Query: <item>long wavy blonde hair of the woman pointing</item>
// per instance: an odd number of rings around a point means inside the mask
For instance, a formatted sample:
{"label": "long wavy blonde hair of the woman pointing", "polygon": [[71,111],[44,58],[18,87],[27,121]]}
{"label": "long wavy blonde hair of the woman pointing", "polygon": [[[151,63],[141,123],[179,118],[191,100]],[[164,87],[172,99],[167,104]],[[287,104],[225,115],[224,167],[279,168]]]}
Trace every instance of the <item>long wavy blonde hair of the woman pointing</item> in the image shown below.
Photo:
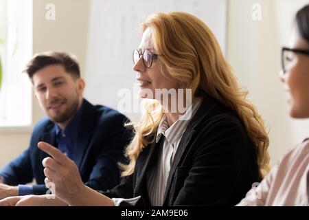
{"label": "long wavy blonde hair of the woman pointing", "polygon": [[[142,32],[147,28],[152,30],[153,48],[161,55],[159,61],[170,76],[185,83],[195,97],[211,96],[237,113],[255,143],[260,177],[264,177],[269,170],[269,140],[264,121],[247,100],[248,92],[238,86],[211,30],[185,12],[152,14],[141,24]],[[122,175],[134,173],[139,153],[155,141],[163,117],[161,109],[158,101],[150,100],[139,122],[129,124],[134,127],[135,136],[126,149],[130,163],[123,166]]]}

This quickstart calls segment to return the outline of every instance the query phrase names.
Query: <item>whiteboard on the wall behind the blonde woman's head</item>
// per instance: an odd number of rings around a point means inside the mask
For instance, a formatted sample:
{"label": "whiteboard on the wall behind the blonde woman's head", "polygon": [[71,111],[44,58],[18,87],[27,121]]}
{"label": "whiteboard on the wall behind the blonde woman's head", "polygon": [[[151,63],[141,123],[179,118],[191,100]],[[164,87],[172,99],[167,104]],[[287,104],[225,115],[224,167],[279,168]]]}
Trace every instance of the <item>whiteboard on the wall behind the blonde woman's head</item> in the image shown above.
{"label": "whiteboard on the wall behind the blonde woman's head", "polygon": [[[121,111],[132,120],[136,109],[124,111],[119,91],[135,88],[132,53],[141,40],[139,25],[155,12],[183,11],[203,20],[226,51],[226,0],[93,0],[89,17],[85,98]],[[136,89],[136,88],[135,88]],[[132,97],[133,102],[139,102]],[[128,108],[126,108],[128,109]]]}

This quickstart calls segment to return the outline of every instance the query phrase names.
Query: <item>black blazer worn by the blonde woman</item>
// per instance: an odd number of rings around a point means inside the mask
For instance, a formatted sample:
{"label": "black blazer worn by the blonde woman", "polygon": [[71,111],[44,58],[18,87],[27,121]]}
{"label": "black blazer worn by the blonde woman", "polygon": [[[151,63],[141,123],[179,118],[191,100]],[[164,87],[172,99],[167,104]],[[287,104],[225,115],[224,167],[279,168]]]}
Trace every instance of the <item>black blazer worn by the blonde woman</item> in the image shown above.
{"label": "black blazer worn by the blonde woman", "polygon": [[[140,195],[136,205],[150,206],[146,175],[155,166],[159,147],[160,143],[146,146],[137,158],[133,175],[122,178],[104,195]],[[232,206],[260,180],[255,146],[238,116],[216,100],[205,98],[181,138],[163,206]]]}

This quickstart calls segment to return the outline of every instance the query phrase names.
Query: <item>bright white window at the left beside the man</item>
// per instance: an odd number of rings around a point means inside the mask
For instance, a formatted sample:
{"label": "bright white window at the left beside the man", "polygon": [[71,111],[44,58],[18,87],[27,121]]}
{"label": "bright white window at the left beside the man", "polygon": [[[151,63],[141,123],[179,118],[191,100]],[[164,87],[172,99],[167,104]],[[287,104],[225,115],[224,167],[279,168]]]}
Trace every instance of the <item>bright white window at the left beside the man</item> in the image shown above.
{"label": "bright white window at the left beside the man", "polygon": [[0,126],[30,126],[32,89],[22,74],[32,57],[32,0],[0,0]]}

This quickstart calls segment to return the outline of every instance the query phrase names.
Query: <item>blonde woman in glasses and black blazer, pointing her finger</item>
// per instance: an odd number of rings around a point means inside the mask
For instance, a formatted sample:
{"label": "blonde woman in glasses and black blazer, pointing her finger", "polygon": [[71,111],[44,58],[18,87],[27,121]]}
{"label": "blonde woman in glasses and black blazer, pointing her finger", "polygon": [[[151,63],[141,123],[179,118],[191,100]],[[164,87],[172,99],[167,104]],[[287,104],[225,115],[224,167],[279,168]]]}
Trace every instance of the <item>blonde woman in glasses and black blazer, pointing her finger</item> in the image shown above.
{"label": "blonde woman in glasses and black blazer, pointing her finger", "polygon": [[153,14],[141,30],[133,53],[141,98],[158,89],[190,89],[192,96],[185,99],[192,102],[190,108],[171,111],[185,93],[167,102],[162,96],[149,100],[133,124],[122,182],[107,192],[84,186],[70,159],[39,143],[52,156],[43,161],[45,182],[54,184],[58,199],[45,203],[41,197],[16,197],[6,204],[231,206],[267,173],[262,118],[238,87],[207,25],[191,14],[171,12]]}

